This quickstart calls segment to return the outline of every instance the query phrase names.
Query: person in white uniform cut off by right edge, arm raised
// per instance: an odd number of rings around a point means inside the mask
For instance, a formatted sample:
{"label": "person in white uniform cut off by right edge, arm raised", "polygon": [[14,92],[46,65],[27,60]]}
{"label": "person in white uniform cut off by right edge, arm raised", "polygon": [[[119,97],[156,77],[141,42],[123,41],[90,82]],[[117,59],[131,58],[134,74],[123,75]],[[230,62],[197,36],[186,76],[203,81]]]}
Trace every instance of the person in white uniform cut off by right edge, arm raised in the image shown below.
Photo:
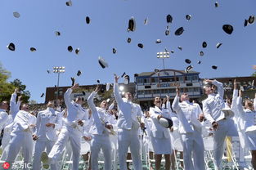
{"label": "person in white uniform cut off by right edge, arm raised", "polygon": [[237,98],[237,109],[240,114],[240,118],[245,121],[245,145],[249,148],[252,154],[252,166],[256,169],[256,94],[254,103],[249,100],[245,100],[245,110],[242,106],[242,91],[239,91]]}

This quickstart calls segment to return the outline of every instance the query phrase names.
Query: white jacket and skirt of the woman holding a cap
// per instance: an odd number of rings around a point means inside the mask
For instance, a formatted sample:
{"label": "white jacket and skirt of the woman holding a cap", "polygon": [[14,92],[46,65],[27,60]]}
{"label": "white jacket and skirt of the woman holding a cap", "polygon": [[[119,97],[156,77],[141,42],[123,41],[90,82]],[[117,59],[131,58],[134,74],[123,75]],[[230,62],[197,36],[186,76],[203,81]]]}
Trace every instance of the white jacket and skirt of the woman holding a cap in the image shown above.
{"label": "white jacket and skirt of the woman holding a cap", "polygon": [[172,119],[169,111],[159,109],[155,106],[150,107],[150,119],[152,120],[152,128],[150,132],[151,142],[155,154],[172,154],[171,136],[169,128],[164,128],[159,124],[157,117],[162,115],[164,118]]}

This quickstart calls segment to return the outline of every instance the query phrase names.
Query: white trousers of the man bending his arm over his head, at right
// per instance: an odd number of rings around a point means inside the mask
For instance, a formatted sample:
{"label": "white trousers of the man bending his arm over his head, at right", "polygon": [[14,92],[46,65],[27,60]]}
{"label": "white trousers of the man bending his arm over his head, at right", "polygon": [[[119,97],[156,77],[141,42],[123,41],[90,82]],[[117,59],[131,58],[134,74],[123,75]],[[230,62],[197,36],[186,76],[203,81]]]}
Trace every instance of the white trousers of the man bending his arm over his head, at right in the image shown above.
{"label": "white trousers of the man bending his arm over his head, at right", "polygon": [[216,170],[222,169],[222,155],[224,152],[224,141],[226,136],[238,136],[238,132],[232,119],[222,119],[218,121],[218,129],[214,131],[213,163]]}

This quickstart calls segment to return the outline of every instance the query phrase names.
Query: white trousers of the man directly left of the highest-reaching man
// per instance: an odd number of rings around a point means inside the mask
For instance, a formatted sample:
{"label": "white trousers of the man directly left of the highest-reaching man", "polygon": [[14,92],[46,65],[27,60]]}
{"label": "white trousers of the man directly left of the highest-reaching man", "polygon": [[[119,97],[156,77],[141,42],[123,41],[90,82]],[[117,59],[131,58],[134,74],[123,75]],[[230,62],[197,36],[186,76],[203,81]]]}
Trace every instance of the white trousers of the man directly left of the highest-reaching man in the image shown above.
{"label": "white trousers of the man directly left of the highest-reaching man", "polygon": [[110,136],[108,135],[93,135],[92,143],[91,143],[91,163],[92,169],[98,169],[98,157],[99,153],[102,150],[104,154],[104,170],[111,170],[112,162],[111,162],[111,143]]}

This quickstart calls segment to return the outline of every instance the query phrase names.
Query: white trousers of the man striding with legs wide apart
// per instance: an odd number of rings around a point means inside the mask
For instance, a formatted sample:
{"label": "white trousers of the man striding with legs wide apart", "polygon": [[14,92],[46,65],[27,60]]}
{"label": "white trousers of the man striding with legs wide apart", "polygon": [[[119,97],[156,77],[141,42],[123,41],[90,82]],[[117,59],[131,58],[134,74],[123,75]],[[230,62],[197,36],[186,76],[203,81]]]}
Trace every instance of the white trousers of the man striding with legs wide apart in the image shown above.
{"label": "white trousers of the man striding with legs wide apart", "polygon": [[56,143],[53,145],[51,152],[49,153],[49,163],[57,163],[60,159],[61,154],[65,148],[65,145],[70,140],[70,144],[73,151],[73,164],[72,169],[79,169],[79,157],[81,150],[81,132],[77,128],[70,126],[64,126],[61,128],[61,132],[58,136]]}

